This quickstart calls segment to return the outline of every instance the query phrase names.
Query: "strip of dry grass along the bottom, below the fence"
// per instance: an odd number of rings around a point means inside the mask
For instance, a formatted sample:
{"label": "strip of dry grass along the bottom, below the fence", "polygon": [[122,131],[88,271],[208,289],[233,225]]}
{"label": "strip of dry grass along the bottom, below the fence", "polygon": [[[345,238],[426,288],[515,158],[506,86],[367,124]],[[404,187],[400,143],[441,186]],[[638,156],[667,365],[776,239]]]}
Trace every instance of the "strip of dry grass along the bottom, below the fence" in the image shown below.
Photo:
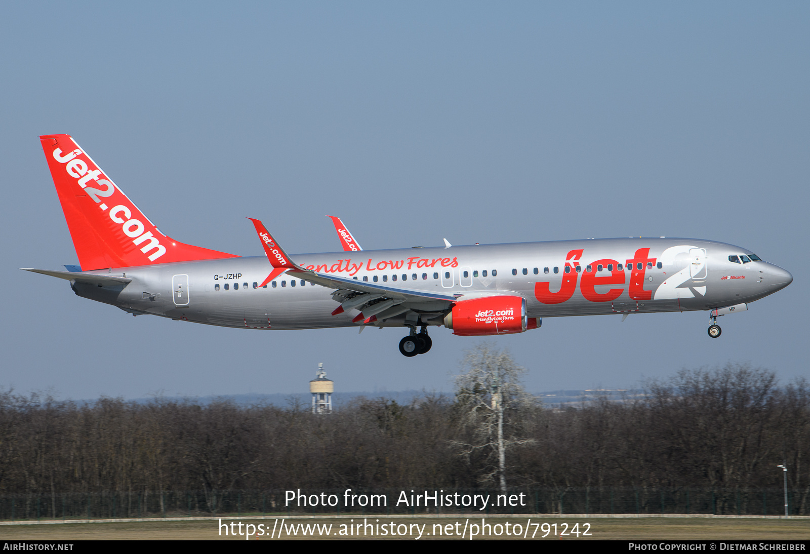
{"label": "strip of dry grass along the bottom, below the fence", "polygon": [[[370,523],[377,524],[377,519],[382,525],[394,522],[394,528],[397,529],[399,525],[411,526],[411,524],[424,525],[423,535],[420,540],[429,539],[462,539],[460,536],[447,536],[447,535],[433,535],[433,525],[439,524],[446,526],[448,524],[454,525],[459,522],[458,530],[461,531],[464,522],[467,521],[467,516],[458,516],[458,518],[390,518],[385,516],[372,516],[367,517]],[[510,517],[510,518],[487,518],[486,522],[493,526],[497,524],[505,524],[509,522],[510,526],[517,523],[523,526],[523,531],[526,530],[526,523],[528,517]],[[579,524],[578,528],[582,531],[584,528],[583,523],[590,523],[590,537],[581,536],[577,539],[576,536],[553,535],[553,531],[548,534],[546,540],[588,540],[588,539],[630,539],[630,540],[653,540],[653,539],[680,539],[680,540],[699,540],[699,539],[748,539],[748,540],[810,540],[810,519],[748,519],[748,518],[531,518],[532,526],[527,533],[527,538],[531,539],[532,532],[535,530],[533,525],[535,522],[549,523],[557,525],[557,531],[562,530],[562,524],[568,523],[569,529],[575,524]],[[272,528],[274,519],[255,520],[249,517],[243,518],[224,518],[223,522],[250,522],[254,524],[262,523],[265,526],[269,523]],[[354,518],[354,523],[363,522],[363,517]],[[480,518],[470,519],[470,523],[480,524]],[[279,525],[280,525],[279,519]],[[299,523],[306,526],[307,524],[318,523],[319,526],[331,525],[330,536],[328,539],[342,539],[343,537],[335,535],[339,533],[340,526],[343,524],[350,525],[352,522],[347,518],[301,518],[301,519],[288,519],[287,524]],[[96,523],[53,523],[53,524],[36,524],[36,525],[2,525],[0,526],[0,540],[21,540],[21,539],[34,539],[34,540],[79,540],[79,539],[214,539],[214,540],[232,540],[241,539],[245,540],[245,536],[227,537],[219,535],[218,529],[219,522],[217,520],[197,520],[197,521],[158,521],[158,522],[96,522]],[[443,527],[444,528],[444,527]],[[403,529],[403,527],[399,527]],[[409,527],[409,529],[412,529]],[[455,527],[454,527],[455,530]],[[397,536],[396,539],[416,539],[418,533],[413,531],[414,535]],[[455,531],[454,531],[455,532]],[[269,533],[269,531],[268,531]],[[429,534],[429,535],[428,535]],[[539,539],[544,535],[544,531],[538,529],[535,539]],[[284,539],[327,539],[326,536],[319,537],[316,533],[315,536],[301,536],[299,531],[297,536],[284,536]],[[388,536],[363,536],[362,531],[360,537],[357,535],[345,537],[347,539],[391,539]],[[480,536],[475,537],[480,538]],[[486,537],[490,538],[490,537]],[[500,537],[492,536],[492,539],[522,539],[523,536],[515,537],[506,536],[505,533]],[[251,537],[254,540],[271,540],[269,536]],[[278,535],[276,534],[276,539]],[[464,536],[465,540],[469,540],[469,532]]]}

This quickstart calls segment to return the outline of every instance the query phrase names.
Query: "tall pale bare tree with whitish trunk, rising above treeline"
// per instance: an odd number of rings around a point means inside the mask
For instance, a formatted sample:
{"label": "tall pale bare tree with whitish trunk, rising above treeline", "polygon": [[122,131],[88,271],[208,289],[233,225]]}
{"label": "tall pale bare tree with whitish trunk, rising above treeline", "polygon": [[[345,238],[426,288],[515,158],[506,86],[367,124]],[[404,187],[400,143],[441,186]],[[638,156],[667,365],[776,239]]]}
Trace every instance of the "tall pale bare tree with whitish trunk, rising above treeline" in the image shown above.
{"label": "tall pale bare tree with whitish trunk, rising above treeline", "polygon": [[[460,426],[470,431],[468,441],[453,441],[464,456],[484,452],[484,482],[496,480],[506,492],[506,450],[532,442],[518,436],[536,399],[523,390],[522,368],[506,350],[483,343],[467,351],[462,362],[467,373],[456,376],[456,406]],[[505,428],[506,427],[506,428]],[[494,459],[493,459],[494,458]]]}

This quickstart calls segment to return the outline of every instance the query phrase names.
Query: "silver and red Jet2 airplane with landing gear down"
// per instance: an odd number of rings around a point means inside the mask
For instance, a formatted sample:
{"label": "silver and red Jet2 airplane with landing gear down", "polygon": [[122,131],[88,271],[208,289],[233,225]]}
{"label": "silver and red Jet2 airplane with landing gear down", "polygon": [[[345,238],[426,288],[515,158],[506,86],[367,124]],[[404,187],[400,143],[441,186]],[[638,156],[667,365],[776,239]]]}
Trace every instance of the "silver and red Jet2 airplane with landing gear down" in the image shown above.
{"label": "silver and red Jet2 airplane with landing gear down", "polygon": [[[288,255],[251,219],[263,256],[186,245],[135,207],[67,134],[40,136],[79,266],[22,268],[133,315],[255,330],[404,327],[399,352],[428,352],[429,326],[459,336],[538,329],[544,317],[748,309],[792,275],[723,242],[628,237]],[[341,231],[343,230],[343,232]],[[359,254],[362,252],[362,254]],[[417,332],[419,328],[419,332]]]}

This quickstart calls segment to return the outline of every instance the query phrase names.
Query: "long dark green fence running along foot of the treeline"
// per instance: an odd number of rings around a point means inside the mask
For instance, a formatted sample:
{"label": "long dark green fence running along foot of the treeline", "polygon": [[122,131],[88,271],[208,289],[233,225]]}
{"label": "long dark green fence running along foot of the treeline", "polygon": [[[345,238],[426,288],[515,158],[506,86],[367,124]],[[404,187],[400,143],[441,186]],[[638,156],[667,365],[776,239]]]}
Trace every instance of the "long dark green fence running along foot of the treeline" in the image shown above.
{"label": "long dark green fence running along foot of the treeline", "polygon": [[[425,505],[424,495],[428,502]],[[330,514],[783,515],[782,489],[538,488],[510,491],[346,489],[297,491],[70,492],[0,496],[0,520]],[[298,496],[298,495],[302,496]],[[354,497],[352,498],[352,495]],[[404,496],[403,496],[404,495]],[[446,496],[450,496],[448,499]],[[433,497],[437,496],[434,501]],[[484,507],[483,499],[489,501]],[[317,505],[312,505],[313,498]],[[808,491],[788,490],[791,515],[808,514]],[[436,505],[438,504],[438,505]],[[442,505],[444,504],[444,505]]]}

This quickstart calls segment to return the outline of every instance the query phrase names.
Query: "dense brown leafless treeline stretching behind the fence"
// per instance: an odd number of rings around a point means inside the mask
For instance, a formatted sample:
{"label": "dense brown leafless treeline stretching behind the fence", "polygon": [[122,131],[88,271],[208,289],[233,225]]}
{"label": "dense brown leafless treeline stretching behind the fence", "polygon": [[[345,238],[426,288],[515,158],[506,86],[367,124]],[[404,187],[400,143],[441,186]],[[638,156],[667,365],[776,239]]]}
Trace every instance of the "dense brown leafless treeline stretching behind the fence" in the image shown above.
{"label": "dense brown leafless treeline stretching behind the fence", "polygon": [[[684,371],[622,401],[509,408],[509,488],[782,488],[807,513],[810,390],[729,365]],[[0,495],[69,492],[494,488],[454,396],[408,405],[75,403],[0,395]]]}

